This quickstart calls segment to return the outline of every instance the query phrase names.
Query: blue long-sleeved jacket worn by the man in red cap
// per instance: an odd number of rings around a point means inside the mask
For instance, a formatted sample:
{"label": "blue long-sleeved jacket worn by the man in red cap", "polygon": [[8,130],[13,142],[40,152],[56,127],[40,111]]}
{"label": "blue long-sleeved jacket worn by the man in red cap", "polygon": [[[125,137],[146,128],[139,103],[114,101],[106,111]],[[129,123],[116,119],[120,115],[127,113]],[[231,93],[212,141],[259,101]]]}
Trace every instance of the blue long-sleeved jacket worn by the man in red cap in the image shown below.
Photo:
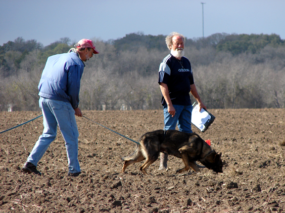
{"label": "blue long-sleeved jacket worn by the man in red cap", "polygon": [[38,86],[39,96],[79,104],[80,79],[85,64],[75,52],[48,57]]}

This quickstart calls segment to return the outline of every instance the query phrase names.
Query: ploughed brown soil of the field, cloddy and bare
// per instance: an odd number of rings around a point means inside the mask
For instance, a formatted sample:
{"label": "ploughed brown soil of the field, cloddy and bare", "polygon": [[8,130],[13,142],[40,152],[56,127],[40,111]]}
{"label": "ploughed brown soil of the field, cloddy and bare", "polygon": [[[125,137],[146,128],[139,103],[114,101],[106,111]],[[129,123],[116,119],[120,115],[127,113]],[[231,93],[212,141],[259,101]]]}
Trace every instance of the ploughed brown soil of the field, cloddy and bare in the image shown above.
{"label": "ploughed brown soil of the field, cloddy and bare", "polygon": [[[0,134],[0,213],[236,213],[285,212],[285,109],[212,109],[216,120],[204,140],[222,152],[224,173],[206,168],[176,174],[182,160],[169,157],[168,171],[159,159],[139,171],[142,162],[122,174],[121,157],[136,144],[86,118],[77,118],[83,173],[67,177],[63,138],[51,143],[38,170],[21,172],[43,131],[43,118]],[[0,112],[0,131],[41,112]],[[83,114],[130,139],[163,129],[162,110],[84,111]]]}

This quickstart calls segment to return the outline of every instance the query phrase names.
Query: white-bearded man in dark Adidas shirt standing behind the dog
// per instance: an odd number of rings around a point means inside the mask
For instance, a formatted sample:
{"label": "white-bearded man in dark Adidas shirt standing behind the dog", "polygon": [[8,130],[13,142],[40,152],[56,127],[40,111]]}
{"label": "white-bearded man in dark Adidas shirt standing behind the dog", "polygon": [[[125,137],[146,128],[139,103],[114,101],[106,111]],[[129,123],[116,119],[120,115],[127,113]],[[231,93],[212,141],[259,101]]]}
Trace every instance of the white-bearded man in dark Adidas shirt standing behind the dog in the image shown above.
{"label": "white-bearded man in dark Adidas shirt standing behind the dog", "polygon": [[[165,38],[165,41],[171,52],[159,66],[158,80],[162,93],[164,130],[175,130],[178,124],[179,131],[192,133],[192,105],[189,93],[196,99],[200,110],[206,109],[206,106],[196,90],[190,61],[184,57],[185,37],[173,32]],[[161,153],[159,169],[167,168],[167,158],[166,153]]]}

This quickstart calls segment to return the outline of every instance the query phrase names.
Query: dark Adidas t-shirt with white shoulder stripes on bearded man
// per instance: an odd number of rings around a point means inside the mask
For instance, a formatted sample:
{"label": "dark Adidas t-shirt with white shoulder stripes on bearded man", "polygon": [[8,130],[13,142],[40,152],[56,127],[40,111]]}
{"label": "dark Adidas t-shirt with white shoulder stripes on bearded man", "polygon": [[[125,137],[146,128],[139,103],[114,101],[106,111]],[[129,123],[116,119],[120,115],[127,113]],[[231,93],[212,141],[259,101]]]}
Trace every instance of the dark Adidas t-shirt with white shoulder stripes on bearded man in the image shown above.
{"label": "dark Adidas t-shirt with white shoulder stripes on bearded man", "polygon": [[[167,84],[173,105],[191,105],[189,93],[194,79],[190,61],[186,57],[182,57],[179,61],[171,54],[166,56],[159,66],[158,83]],[[166,104],[163,96],[161,104]]]}

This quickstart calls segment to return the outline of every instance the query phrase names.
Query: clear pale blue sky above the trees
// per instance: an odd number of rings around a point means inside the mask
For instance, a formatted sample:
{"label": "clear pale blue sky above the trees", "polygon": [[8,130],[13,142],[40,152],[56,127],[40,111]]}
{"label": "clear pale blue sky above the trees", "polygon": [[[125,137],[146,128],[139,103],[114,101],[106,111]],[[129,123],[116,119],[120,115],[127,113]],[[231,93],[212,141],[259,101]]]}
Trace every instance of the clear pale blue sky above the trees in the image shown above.
{"label": "clear pale blue sky above the trees", "polygon": [[285,0],[0,0],[0,45],[22,36],[44,46],[69,37],[126,34],[188,38],[215,33],[277,34],[285,39]]}

